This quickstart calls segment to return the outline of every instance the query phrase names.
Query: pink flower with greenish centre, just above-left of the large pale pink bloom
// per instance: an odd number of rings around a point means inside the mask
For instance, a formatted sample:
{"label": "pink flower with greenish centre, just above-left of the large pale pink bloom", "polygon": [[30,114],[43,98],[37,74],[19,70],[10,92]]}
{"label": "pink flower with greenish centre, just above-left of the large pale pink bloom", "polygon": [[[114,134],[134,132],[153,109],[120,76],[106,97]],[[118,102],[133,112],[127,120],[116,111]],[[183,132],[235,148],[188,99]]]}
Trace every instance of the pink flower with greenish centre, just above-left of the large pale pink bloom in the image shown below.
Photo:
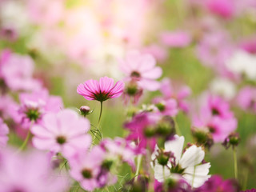
{"label": "pink flower with greenish centre, just above-left of the large pale pink bloom", "polygon": [[19,95],[21,106],[18,109],[18,123],[22,127],[29,128],[30,122],[39,123],[44,114],[49,112],[57,113],[62,109],[62,98],[48,94],[48,90],[36,90],[31,94],[22,93]]}

